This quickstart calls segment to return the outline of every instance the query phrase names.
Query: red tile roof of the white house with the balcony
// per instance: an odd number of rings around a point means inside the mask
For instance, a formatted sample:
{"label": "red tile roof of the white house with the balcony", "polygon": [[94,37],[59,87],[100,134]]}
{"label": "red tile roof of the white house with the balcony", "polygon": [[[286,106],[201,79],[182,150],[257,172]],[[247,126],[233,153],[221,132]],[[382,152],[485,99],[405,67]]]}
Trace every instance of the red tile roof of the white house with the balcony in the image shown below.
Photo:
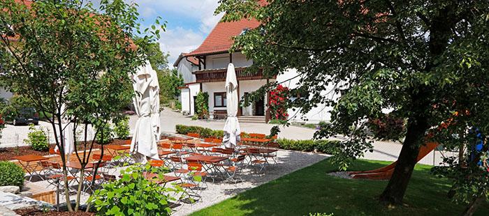
{"label": "red tile roof of the white house with the balcony", "polygon": [[187,56],[196,56],[202,54],[214,54],[227,52],[233,45],[233,37],[239,36],[244,29],[254,29],[260,23],[256,20],[242,19],[236,22],[219,22],[204,42]]}

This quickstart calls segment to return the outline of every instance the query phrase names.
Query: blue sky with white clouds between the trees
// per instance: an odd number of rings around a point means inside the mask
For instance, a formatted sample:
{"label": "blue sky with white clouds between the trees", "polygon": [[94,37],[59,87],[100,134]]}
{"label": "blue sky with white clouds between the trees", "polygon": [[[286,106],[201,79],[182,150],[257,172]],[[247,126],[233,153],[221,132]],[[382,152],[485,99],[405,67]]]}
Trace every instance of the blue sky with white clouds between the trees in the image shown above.
{"label": "blue sky with white clouds between the trees", "polygon": [[158,16],[168,22],[159,43],[161,50],[170,54],[170,67],[181,52],[196,49],[222,17],[214,16],[218,0],[133,1],[139,5],[144,26],[153,24]]}

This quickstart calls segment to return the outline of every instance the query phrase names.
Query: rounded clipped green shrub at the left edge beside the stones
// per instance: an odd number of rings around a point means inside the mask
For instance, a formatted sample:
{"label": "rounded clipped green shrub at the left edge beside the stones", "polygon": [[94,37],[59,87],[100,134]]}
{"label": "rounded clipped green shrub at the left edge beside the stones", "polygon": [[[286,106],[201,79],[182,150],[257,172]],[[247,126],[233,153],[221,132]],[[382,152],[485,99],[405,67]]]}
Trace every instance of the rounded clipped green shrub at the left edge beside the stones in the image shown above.
{"label": "rounded clipped green shrub at the left edge beside the stones", "polygon": [[0,161],[0,186],[24,185],[24,170],[17,164],[8,161]]}

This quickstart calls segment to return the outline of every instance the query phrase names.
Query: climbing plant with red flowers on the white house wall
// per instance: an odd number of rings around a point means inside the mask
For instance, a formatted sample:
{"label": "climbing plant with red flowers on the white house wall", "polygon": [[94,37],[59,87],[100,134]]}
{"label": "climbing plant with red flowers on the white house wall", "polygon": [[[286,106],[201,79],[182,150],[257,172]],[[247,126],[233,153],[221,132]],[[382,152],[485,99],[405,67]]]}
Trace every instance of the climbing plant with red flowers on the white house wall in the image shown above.
{"label": "climbing plant with red flowers on the white house wall", "polygon": [[272,118],[277,120],[287,120],[289,114],[287,114],[286,101],[287,91],[289,88],[278,85],[277,88],[270,91],[270,114]]}

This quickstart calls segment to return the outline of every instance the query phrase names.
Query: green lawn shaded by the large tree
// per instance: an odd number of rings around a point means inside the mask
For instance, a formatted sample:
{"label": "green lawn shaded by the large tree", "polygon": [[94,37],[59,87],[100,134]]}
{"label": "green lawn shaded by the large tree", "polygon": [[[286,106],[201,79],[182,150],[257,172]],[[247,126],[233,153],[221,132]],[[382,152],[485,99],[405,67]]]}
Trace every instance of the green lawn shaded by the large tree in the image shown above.
{"label": "green lawn shaded by the large tree", "polygon": [[[388,163],[358,160],[351,170],[374,169]],[[460,215],[464,206],[451,203],[446,196],[448,180],[430,175],[429,169],[430,166],[416,166],[404,196],[405,204],[395,208],[381,206],[376,199],[387,181],[329,176],[326,173],[335,169],[323,160],[193,215]],[[488,205],[476,215],[489,215]]]}

